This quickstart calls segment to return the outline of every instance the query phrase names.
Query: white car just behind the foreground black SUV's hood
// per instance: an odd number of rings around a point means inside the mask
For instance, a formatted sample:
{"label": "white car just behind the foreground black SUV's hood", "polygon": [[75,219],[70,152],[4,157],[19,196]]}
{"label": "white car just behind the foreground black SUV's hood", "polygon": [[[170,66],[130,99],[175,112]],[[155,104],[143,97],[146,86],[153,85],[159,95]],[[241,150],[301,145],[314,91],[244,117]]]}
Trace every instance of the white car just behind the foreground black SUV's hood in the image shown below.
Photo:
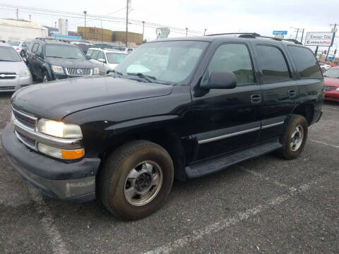
{"label": "white car just behind the foreground black SUV's hood", "polygon": [[95,67],[99,68],[99,73],[105,75],[113,71],[128,56],[128,53],[115,49],[90,48],[86,56]]}

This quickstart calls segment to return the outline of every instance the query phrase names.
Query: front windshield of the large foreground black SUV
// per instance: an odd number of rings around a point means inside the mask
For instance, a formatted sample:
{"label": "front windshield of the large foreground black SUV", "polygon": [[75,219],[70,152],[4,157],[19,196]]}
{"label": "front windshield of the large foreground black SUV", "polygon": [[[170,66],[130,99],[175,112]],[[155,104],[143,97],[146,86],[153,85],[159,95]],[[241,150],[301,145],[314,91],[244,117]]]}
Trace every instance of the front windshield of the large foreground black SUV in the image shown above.
{"label": "front windshield of the large foreground black SUV", "polygon": [[165,41],[143,44],[119,63],[123,75],[142,73],[169,83],[189,77],[208,42]]}

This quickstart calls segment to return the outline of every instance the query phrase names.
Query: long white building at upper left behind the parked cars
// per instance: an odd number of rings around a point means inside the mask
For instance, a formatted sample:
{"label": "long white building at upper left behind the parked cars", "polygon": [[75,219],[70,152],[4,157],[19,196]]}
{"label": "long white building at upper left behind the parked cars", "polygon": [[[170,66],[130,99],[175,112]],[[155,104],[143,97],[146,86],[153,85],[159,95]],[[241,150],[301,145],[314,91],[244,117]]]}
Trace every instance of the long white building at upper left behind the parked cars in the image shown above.
{"label": "long white building at upper left behind the parked cars", "polygon": [[36,37],[47,37],[48,30],[38,23],[0,19],[0,40],[30,41]]}

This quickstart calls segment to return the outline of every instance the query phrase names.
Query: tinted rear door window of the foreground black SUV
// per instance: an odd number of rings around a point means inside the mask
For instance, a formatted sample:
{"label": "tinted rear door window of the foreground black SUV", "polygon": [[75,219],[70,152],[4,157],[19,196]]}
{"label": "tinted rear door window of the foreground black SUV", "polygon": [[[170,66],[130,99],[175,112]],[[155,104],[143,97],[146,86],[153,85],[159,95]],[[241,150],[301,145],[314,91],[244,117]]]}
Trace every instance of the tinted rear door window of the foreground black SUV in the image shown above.
{"label": "tinted rear door window of the foreground black SUV", "polygon": [[263,72],[263,83],[288,80],[291,78],[285,56],[278,47],[258,45],[258,63]]}

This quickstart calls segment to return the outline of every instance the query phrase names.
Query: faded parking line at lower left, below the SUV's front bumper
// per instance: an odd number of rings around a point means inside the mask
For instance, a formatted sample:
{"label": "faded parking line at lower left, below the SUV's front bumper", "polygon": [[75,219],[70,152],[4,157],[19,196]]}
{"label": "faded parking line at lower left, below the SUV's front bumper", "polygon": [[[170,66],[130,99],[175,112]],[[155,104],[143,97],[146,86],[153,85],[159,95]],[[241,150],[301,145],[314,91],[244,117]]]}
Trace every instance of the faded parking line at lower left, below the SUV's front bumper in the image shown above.
{"label": "faded parking line at lower left, below the SUV's front bumper", "polygon": [[54,225],[54,219],[52,217],[52,212],[47,207],[46,203],[42,199],[41,193],[35,190],[35,188],[29,188],[30,196],[32,200],[35,201],[35,206],[37,208],[37,212],[42,215],[42,219],[40,219],[40,223],[47,236],[49,236],[49,240],[52,243],[52,250],[54,254],[68,254],[69,251],[66,249],[66,245],[64,241],[62,241],[61,234],[57,229],[57,226]]}

